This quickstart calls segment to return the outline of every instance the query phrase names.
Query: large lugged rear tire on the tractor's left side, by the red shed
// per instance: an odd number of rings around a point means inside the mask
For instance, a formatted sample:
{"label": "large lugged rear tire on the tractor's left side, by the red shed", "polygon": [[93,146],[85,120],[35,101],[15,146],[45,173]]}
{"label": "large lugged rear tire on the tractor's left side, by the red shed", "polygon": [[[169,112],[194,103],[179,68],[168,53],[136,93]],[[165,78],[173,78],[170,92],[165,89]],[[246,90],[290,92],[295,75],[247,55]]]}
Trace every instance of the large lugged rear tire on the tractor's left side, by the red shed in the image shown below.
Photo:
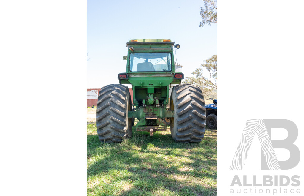
{"label": "large lugged rear tire on the tractor's left side, by the red shed", "polygon": [[129,88],[110,84],[100,89],[97,101],[97,134],[101,142],[122,142],[132,136],[132,110]]}

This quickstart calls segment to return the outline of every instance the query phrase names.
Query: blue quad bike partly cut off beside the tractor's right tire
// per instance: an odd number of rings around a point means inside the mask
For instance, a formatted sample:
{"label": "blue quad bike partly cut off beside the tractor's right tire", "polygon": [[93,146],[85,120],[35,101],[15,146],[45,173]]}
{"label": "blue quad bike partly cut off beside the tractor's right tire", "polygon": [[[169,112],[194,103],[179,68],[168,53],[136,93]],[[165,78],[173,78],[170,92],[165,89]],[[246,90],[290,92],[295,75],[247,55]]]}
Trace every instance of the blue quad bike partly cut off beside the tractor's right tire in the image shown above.
{"label": "blue quad bike partly cut off beside the tractor's right tire", "polygon": [[209,98],[207,100],[213,100],[213,103],[205,105],[207,117],[206,125],[210,129],[217,129],[217,99]]}

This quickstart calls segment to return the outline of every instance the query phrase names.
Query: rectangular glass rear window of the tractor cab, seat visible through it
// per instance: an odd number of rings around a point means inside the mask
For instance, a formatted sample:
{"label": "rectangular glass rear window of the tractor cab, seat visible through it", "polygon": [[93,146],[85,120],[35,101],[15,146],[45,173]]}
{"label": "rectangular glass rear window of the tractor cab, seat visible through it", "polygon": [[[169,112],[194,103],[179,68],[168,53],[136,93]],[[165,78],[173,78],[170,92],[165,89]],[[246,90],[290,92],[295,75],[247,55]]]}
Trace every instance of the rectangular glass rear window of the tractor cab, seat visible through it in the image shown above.
{"label": "rectangular glass rear window of the tractor cab, seat visible through it", "polygon": [[130,70],[136,72],[171,71],[171,53],[131,53]]}

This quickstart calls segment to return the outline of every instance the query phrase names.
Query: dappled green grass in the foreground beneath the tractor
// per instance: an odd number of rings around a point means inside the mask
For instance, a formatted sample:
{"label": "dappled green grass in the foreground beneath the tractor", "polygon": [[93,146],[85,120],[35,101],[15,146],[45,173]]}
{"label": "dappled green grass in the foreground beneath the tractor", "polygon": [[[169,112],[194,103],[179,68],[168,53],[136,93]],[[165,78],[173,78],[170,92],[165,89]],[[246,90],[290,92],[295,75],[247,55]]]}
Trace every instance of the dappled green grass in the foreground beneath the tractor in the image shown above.
{"label": "dappled green grass in the foreground beneath the tractor", "polygon": [[217,195],[217,132],[176,143],[168,131],[101,143],[87,125],[87,195]]}

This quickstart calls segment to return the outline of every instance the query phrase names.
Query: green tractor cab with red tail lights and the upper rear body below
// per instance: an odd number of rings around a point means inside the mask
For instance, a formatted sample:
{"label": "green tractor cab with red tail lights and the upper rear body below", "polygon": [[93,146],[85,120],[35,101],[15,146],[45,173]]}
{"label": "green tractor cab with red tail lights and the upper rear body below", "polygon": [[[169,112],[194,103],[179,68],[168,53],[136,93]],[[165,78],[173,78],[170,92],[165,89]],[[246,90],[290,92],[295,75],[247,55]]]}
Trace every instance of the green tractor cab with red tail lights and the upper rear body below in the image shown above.
{"label": "green tractor cab with red tail lights and the upper rear body below", "polygon": [[[175,71],[174,45],[171,40],[130,40],[126,43],[128,55],[123,56],[126,73],[118,74],[119,84],[132,84],[133,104],[136,108],[147,102],[149,95],[158,100],[161,108],[169,101],[170,84],[181,84],[184,74]],[[145,104],[147,103],[147,104]],[[158,104],[157,104],[158,105]]]}

